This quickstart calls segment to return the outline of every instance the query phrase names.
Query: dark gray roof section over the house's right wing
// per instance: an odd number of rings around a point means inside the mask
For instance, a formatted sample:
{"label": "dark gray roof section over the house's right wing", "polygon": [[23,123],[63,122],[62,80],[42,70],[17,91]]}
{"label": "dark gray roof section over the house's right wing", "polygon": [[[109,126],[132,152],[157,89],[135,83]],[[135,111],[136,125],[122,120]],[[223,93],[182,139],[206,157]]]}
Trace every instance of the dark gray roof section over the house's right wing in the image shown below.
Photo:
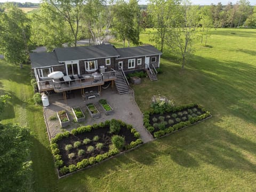
{"label": "dark gray roof section over the house's right wing", "polygon": [[138,46],[138,47],[124,47],[116,49],[120,55],[119,58],[132,58],[146,55],[162,54],[161,51],[152,45]]}

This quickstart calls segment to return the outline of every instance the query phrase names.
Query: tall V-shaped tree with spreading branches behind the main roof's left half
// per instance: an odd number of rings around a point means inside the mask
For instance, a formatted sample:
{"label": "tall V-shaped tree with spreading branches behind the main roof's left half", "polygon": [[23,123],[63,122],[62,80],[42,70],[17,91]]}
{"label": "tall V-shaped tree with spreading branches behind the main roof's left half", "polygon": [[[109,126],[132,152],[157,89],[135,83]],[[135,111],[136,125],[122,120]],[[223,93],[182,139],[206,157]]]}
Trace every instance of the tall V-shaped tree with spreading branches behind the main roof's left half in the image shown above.
{"label": "tall V-shaped tree with spreading branches behind the main roof's left half", "polygon": [[76,46],[84,0],[44,0],[44,3],[49,5],[46,6],[47,9],[68,23]]}

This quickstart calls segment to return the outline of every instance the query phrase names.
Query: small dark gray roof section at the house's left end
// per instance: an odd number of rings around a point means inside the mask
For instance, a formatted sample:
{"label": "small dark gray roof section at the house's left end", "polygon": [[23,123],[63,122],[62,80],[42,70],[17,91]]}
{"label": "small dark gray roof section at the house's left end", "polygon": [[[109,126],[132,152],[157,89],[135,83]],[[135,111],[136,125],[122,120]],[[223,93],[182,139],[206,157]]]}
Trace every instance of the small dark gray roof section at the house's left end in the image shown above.
{"label": "small dark gray roof section at the house's left end", "polygon": [[54,52],[30,53],[29,56],[32,68],[60,65]]}

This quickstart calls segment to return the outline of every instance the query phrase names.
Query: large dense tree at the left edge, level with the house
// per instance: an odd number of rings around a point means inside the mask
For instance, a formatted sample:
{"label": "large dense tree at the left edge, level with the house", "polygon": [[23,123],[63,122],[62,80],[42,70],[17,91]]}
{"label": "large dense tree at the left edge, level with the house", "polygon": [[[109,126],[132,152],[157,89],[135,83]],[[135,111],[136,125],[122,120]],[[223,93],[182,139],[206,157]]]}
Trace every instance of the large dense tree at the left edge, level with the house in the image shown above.
{"label": "large dense tree at the left edge, level with the house", "polygon": [[30,27],[26,13],[11,4],[0,12],[0,49],[6,60],[19,64],[28,60]]}

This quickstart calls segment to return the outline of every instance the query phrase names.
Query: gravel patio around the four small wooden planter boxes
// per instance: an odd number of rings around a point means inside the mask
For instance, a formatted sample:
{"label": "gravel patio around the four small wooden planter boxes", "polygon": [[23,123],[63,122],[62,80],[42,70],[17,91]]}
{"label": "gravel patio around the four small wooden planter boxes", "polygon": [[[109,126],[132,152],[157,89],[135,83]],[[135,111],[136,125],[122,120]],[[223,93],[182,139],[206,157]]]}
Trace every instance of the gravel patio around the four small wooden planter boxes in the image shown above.
{"label": "gravel patio around the four small wooden planter boxes", "polygon": [[[103,109],[99,105],[99,99],[106,99],[111,107],[114,108],[114,114],[105,115]],[[50,106],[44,108],[45,119],[47,127],[49,129],[50,138],[53,138],[57,133],[63,131],[71,131],[81,125],[92,125],[94,123],[105,122],[107,119],[121,119],[123,122],[133,125],[133,127],[140,133],[143,142],[148,142],[153,140],[151,134],[143,126],[143,116],[135,103],[133,98],[133,93],[120,95],[116,91],[102,90],[101,96],[95,99],[83,100],[79,90],[73,95],[72,99],[67,99],[67,103],[63,100],[61,93],[50,94],[49,95]],[[85,105],[87,103],[94,103],[95,106],[100,111],[101,117],[98,119],[92,119],[86,110]],[[86,120],[83,123],[73,122],[73,113],[71,107],[81,107],[85,113]],[[51,121],[49,118],[56,114],[56,111],[65,109],[68,111],[68,117],[71,124],[68,127],[61,128],[60,123],[57,120]],[[132,115],[131,115],[131,114]]]}

